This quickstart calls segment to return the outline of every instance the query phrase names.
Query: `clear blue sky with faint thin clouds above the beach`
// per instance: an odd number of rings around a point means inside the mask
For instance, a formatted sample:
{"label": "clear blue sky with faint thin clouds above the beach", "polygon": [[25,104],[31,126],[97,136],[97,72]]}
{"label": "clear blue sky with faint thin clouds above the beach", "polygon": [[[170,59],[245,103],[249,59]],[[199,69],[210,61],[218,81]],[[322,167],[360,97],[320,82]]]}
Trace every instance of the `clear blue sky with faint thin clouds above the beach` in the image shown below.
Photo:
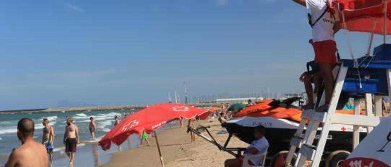
{"label": "clear blue sky with faint thin clouds above the beach", "polygon": [[[307,9],[291,0],[0,2],[0,110],[303,91]],[[368,33],[347,33],[355,57]],[[350,58],[337,33],[341,57]],[[375,37],[375,46],[381,41]]]}

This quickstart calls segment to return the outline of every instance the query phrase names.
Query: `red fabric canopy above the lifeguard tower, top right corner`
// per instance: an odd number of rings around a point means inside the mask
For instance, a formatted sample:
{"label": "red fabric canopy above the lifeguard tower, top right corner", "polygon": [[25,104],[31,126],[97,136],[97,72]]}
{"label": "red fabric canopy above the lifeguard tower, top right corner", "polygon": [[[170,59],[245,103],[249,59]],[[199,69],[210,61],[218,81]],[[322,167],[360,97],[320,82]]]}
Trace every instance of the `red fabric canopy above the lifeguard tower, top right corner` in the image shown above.
{"label": "red fabric canopy above the lifeguard tower, top right corner", "polygon": [[[333,8],[339,13],[341,27],[358,32],[374,32],[383,34],[384,2],[389,0],[334,0]],[[391,4],[387,4],[387,34],[391,34]]]}

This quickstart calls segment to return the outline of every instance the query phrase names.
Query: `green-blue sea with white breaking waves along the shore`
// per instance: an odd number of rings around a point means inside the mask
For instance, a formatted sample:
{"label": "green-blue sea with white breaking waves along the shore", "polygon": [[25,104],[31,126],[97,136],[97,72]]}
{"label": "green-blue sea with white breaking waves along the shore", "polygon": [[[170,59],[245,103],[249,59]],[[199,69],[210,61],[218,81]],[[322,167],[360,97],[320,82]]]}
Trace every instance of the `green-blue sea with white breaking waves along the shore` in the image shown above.
{"label": "green-blue sea with white breaking waves along the shore", "polygon": [[[35,123],[34,139],[41,142],[42,139],[42,119],[47,118],[50,125],[54,127],[54,166],[68,167],[69,159],[65,154],[63,136],[65,131],[65,118],[70,116],[74,123],[79,127],[81,144],[77,146],[74,166],[92,167],[100,166],[109,162],[111,153],[138,147],[140,140],[138,135],[131,135],[120,147],[115,144],[111,145],[110,150],[103,151],[97,145],[111,128],[113,128],[114,117],[121,116],[125,113],[137,112],[137,110],[102,110],[102,111],[84,111],[84,112],[31,112],[23,114],[0,114],[0,166],[4,166],[8,156],[13,148],[21,145],[16,135],[17,123],[22,118],[30,118]],[[95,130],[95,140],[91,139],[88,125],[90,117],[94,117],[97,128]]]}

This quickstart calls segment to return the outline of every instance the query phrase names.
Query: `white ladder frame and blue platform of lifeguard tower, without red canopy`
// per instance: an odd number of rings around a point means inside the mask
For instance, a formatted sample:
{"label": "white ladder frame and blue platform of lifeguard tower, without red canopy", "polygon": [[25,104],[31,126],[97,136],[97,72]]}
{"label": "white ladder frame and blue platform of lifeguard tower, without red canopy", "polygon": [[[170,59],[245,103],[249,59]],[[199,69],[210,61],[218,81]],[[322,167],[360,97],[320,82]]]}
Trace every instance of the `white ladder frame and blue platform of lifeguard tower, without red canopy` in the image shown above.
{"label": "white ladder frame and blue platform of lifeguard tower, without red canopy", "polygon": [[[328,112],[303,111],[299,128],[292,137],[291,148],[285,159],[286,166],[303,167],[306,161],[312,161],[310,166],[318,167],[332,124],[353,125],[354,149],[359,144],[360,127],[366,127],[369,133],[373,126],[380,123],[382,96],[391,95],[391,44],[377,46],[373,55],[361,57],[357,62],[341,60],[341,64],[334,68],[333,73],[337,74],[337,77]],[[348,93],[351,98],[354,98],[354,115],[335,113],[341,92]],[[374,105],[372,95],[374,96]],[[360,115],[362,98],[365,98],[366,115]],[[323,105],[324,99],[323,93],[317,106]],[[373,114],[373,109],[375,114]],[[306,125],[307,120],[309,120],[308,126]],[[323,127],[319,127],[321,123],[323,123]],[[320,135],[317,146],[314,146],[318,130]],[[296,162],[291,164],[297,148],[300,150]]]}

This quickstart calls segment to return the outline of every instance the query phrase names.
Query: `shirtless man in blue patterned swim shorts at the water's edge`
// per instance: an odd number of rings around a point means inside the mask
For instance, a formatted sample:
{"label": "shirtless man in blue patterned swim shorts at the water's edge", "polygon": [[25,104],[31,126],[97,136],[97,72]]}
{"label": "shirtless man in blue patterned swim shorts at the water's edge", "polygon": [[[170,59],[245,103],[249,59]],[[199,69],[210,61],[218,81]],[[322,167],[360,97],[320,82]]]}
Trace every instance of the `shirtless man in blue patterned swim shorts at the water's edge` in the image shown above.
{"label": "shirtless man in blue patterned swim shorts at the water's edge", "polygon": [[48,119],[43,119],[42,124],[43,134],[42,134],[42,144],[46,147],[46,151],[49,154],[50,167],[53,166],[53,149],[54,149],[54,128],[49,125]]}

